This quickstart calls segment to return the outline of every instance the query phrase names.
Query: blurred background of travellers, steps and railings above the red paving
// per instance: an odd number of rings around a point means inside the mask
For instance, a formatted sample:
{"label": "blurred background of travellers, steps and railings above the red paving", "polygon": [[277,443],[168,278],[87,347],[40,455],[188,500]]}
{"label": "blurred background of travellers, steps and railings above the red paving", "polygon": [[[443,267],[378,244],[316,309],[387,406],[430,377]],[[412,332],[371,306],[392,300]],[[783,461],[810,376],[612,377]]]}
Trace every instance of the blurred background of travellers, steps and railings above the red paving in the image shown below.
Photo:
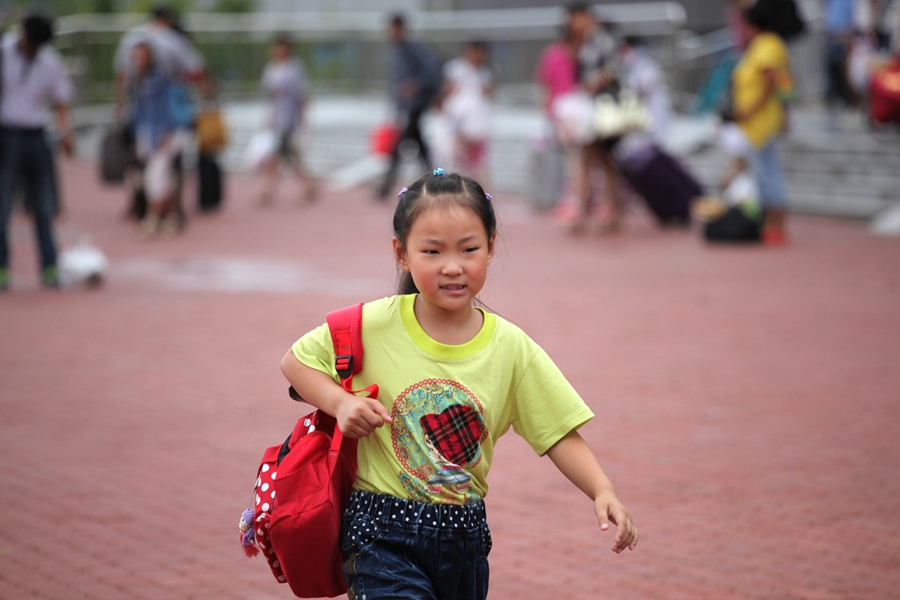
{"label": "blurred background of travellers, steps and railings above the red paving", "polygon": [[18,205],[60,283],[57,148],[97,161],[145,239],[219,210],[236,171],[264,208],[385,201],[439,165],[573,234],[646,206],[772,245],[789,211],[897,200],[900,0],[0,0],[0,19],[3,288]]}

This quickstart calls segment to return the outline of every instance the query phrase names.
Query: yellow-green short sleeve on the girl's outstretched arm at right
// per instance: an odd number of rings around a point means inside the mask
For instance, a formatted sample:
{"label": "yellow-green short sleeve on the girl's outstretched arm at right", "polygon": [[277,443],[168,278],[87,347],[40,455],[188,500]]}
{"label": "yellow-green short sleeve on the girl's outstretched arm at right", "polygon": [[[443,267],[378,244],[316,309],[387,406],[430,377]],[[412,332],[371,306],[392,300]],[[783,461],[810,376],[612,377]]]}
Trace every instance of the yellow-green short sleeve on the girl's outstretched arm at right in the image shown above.
{"label": "yellow-green short sleeve on the girl's outstretched arm at right", "polygon": [[547,353],[538,348],[514,392],[512,427],[543,456],[594,416]]}

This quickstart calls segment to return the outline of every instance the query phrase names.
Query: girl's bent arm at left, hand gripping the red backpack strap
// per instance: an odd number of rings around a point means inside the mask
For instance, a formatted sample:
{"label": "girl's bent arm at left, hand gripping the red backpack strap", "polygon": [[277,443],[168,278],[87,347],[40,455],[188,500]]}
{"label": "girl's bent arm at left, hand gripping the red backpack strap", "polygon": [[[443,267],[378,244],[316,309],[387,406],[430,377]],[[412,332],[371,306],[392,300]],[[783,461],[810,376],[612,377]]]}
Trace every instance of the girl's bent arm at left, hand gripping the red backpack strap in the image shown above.
{"label": "girl's bent arm at left, hand gripping the red backpack strap", "polygon": [[376,427],[391,422],[391,415],[381,402],[354,396],[328,374],[301,363],[291,350],[281,359],[281,372],[307,403],[337,419],[347,437],[366,437]]}

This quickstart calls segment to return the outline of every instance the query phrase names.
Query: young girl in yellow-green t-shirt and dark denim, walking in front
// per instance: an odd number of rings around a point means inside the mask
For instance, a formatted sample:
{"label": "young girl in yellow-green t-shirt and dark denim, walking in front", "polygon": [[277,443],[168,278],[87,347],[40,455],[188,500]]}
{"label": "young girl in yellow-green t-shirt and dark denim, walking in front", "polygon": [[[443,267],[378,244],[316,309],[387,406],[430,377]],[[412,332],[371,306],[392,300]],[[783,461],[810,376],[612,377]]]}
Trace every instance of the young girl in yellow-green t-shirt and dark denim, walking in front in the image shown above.
{"label": "young girl in yellow-green t-shirt and dark denim, walking in front", "polygon": [[359,438],[359,468],[344,513],[351,599],[482,599],[491,536],[484,497],[494,444],[510,427],[594,502],[612,549],[634,549],[637,529],[578,434],[593,413],[521,329],[473,304],[497,237],[491,196],[438,169],[400,193],[393,249],[399,293],[363,306],[366,365],[337,383],[327,325],[281,363],[292,386]]}

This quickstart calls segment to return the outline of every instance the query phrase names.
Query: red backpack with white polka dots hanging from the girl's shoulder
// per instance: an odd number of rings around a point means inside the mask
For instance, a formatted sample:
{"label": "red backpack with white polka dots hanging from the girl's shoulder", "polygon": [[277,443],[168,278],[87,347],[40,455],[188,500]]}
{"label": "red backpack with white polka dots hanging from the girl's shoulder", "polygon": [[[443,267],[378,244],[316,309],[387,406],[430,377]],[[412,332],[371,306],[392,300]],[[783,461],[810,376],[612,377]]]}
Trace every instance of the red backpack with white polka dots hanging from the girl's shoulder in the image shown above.
{"label": "red backpack with white polka dots hanging from the girl's shoulder", "polygon": [[[377,385],[353,389],[363,364],[362,306],[329,313],[328,328],[341,386],[377,398]],[[289,393],[303,400],[293,387]],[[241,516],[241,544],[248,557],[262,551],[275,579],[300,598],[347,592],[341,518],[356,479],[356,446],[355,439],[344,440],[334,417],[317,410],[260,462],[250,508]]]}

